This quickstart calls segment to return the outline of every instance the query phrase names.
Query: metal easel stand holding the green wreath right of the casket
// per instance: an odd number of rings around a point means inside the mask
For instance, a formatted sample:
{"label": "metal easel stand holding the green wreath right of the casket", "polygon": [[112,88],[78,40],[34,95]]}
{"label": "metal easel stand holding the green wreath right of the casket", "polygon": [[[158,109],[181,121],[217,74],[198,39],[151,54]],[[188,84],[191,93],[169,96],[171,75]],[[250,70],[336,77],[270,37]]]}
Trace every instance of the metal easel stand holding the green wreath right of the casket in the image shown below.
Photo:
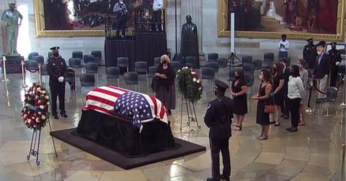
{"label": "metal easel stand holding the green wreath right of the casket", "polygon": [[[185,90],[185,77],[183,75],[183,81],[182,81],[182,90]],[[185,104],[186,104],[186,111],[188,112],[188,122],[186,122],[186,126],[183,126],[183,106],[184,106],[184,98],[185,98]],[[192,104],[192,108],[191,108]],[[191,113],[191,115],[190,115]],[[188,101],[186,99],[186,93],[182,93],[181,95],[181,111],[180,111],[180,131],[183,129],[183,127],[188,127],[190,126],[191,122],[196,122],[198,129],[201,129],[201,126],[198,124],[197,116],[196,116],[196,111],[194,109],[194,104],[193,102]]]}

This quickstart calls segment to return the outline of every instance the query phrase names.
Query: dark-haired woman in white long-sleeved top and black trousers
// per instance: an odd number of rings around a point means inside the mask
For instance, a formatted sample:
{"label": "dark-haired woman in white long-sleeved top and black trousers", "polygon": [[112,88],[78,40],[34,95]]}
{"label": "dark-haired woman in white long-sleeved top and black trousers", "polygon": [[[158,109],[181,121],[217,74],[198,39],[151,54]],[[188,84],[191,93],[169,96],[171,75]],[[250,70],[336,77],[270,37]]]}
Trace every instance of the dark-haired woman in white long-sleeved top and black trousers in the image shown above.
{"label": "dark-haired woman in white long-sleeved top and black trousers", "polygon": [[298,123],[299,123],[299,107],[300,101],[302,100],[302,96],[304,95],[304,86],[303,81],[299,76],[299,67],[297,65],[293,65],[290,69],[290,78],[288,81],[288,103],[291,113],[291,127],[286,130],[289,132],[298,131]]}

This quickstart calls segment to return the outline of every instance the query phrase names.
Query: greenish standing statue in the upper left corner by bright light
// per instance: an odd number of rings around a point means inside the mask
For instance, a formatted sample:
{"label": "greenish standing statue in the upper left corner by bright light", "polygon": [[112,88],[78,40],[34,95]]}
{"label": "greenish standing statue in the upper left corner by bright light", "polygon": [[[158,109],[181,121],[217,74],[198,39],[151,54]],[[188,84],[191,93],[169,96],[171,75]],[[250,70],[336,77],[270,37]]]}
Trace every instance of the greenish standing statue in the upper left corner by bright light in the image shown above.
{"label": "greenish standing statue in the upper left corner by bright light", "polygon": [[[8,38],[8,53],[18,53],[17,52],[17,37],[18,37],[18,27],[21,25],[23,16],[16,9],[16,3],[8,3],[10,9],[4,11],[1,16],[1,20],[6,22],[7,38]],[[18,18],[20,22],[18,24]]]}

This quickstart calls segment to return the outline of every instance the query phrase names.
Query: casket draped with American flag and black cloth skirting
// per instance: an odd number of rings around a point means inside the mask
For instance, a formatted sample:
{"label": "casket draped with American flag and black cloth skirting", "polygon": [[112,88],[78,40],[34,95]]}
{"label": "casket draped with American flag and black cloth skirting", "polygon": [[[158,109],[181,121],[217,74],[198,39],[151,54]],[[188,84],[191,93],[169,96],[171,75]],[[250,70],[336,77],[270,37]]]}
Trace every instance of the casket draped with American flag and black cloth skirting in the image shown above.
{"label": "casket draped with American flag and black cloth skirting", "polygon": [[166,109],[152,95],[115,86],[86,95],[76,134],[134,156],[174,147]]}

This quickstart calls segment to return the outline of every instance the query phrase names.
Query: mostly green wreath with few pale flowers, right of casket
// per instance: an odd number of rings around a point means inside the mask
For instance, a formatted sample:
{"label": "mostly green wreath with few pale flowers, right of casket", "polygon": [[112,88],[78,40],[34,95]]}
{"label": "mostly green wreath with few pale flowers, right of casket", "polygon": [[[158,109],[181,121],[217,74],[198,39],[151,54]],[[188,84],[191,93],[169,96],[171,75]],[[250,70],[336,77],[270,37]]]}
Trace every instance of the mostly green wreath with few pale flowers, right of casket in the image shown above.
{"label": "mostly green wreath with few pale flowers, right of casket", "polygon": [[201,99],[203,85],[197,72],[189,67],[183,67],[176,72],[178,80],[178,91],[183,93],[190,102],[197,102]]}

